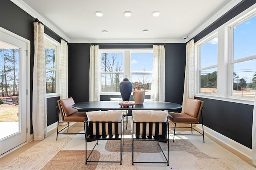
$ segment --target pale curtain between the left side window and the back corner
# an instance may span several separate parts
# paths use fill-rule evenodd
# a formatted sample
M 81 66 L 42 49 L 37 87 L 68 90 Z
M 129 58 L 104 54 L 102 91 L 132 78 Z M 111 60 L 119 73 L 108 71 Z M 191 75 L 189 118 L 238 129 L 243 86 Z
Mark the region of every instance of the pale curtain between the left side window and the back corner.
M 68 43 L 60 41 L 60 99 L 68 98 Z

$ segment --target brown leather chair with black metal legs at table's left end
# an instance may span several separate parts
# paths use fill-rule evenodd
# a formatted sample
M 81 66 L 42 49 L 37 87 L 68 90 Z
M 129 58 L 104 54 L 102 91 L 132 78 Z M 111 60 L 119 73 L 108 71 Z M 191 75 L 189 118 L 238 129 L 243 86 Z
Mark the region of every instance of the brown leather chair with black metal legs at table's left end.
M 73 98 L 66 98 L 57 101 L 59 114 L 58 114 L 58 126 L 57 126 L 57 137 L 56 141 L 58 140 L 58 133 L 64 134 L 85 134 L 85 122 L 86 122 L 86 112 L 85 111 L 78 111 L 72 107 L 75 104 Z M 62 122 L 68 123 L 66 127 L 59 131 L 59 117 L 61 116 Z M 76 122 L 83 122 L 84 125 L 69 125 L 69 123 L 76 123 Z M 80 132 L 68 132 L 69 127 L 84 127 L 84 133 Z M 67 132 L 62 132 L 67 128 Z

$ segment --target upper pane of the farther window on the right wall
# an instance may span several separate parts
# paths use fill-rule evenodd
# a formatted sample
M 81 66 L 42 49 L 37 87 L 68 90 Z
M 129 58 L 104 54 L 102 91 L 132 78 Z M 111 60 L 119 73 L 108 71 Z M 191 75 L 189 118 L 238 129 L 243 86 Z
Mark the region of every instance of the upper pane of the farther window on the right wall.
M 218 37 L 200 46 L 201 68 L 212 66 L 218 62 Z

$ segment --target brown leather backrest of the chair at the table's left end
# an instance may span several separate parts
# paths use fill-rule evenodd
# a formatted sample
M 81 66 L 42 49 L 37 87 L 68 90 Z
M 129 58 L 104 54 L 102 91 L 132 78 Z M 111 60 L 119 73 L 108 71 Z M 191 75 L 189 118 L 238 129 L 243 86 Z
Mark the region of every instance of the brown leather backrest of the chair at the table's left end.
M 62 120 L 65 116 L 72 115 L 78 111 L 72 107 L 72 105 L 75 104 L 73 98 L 60 99 L 57 101 L 57 103 L 60 109 Z

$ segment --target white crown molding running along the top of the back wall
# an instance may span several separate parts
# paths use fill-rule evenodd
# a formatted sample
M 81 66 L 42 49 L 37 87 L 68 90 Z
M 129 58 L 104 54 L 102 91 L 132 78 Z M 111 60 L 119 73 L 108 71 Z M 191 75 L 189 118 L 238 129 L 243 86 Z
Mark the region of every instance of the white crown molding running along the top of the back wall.
M 184 39 L 71 39 L 69 43 L 186 43 Z

